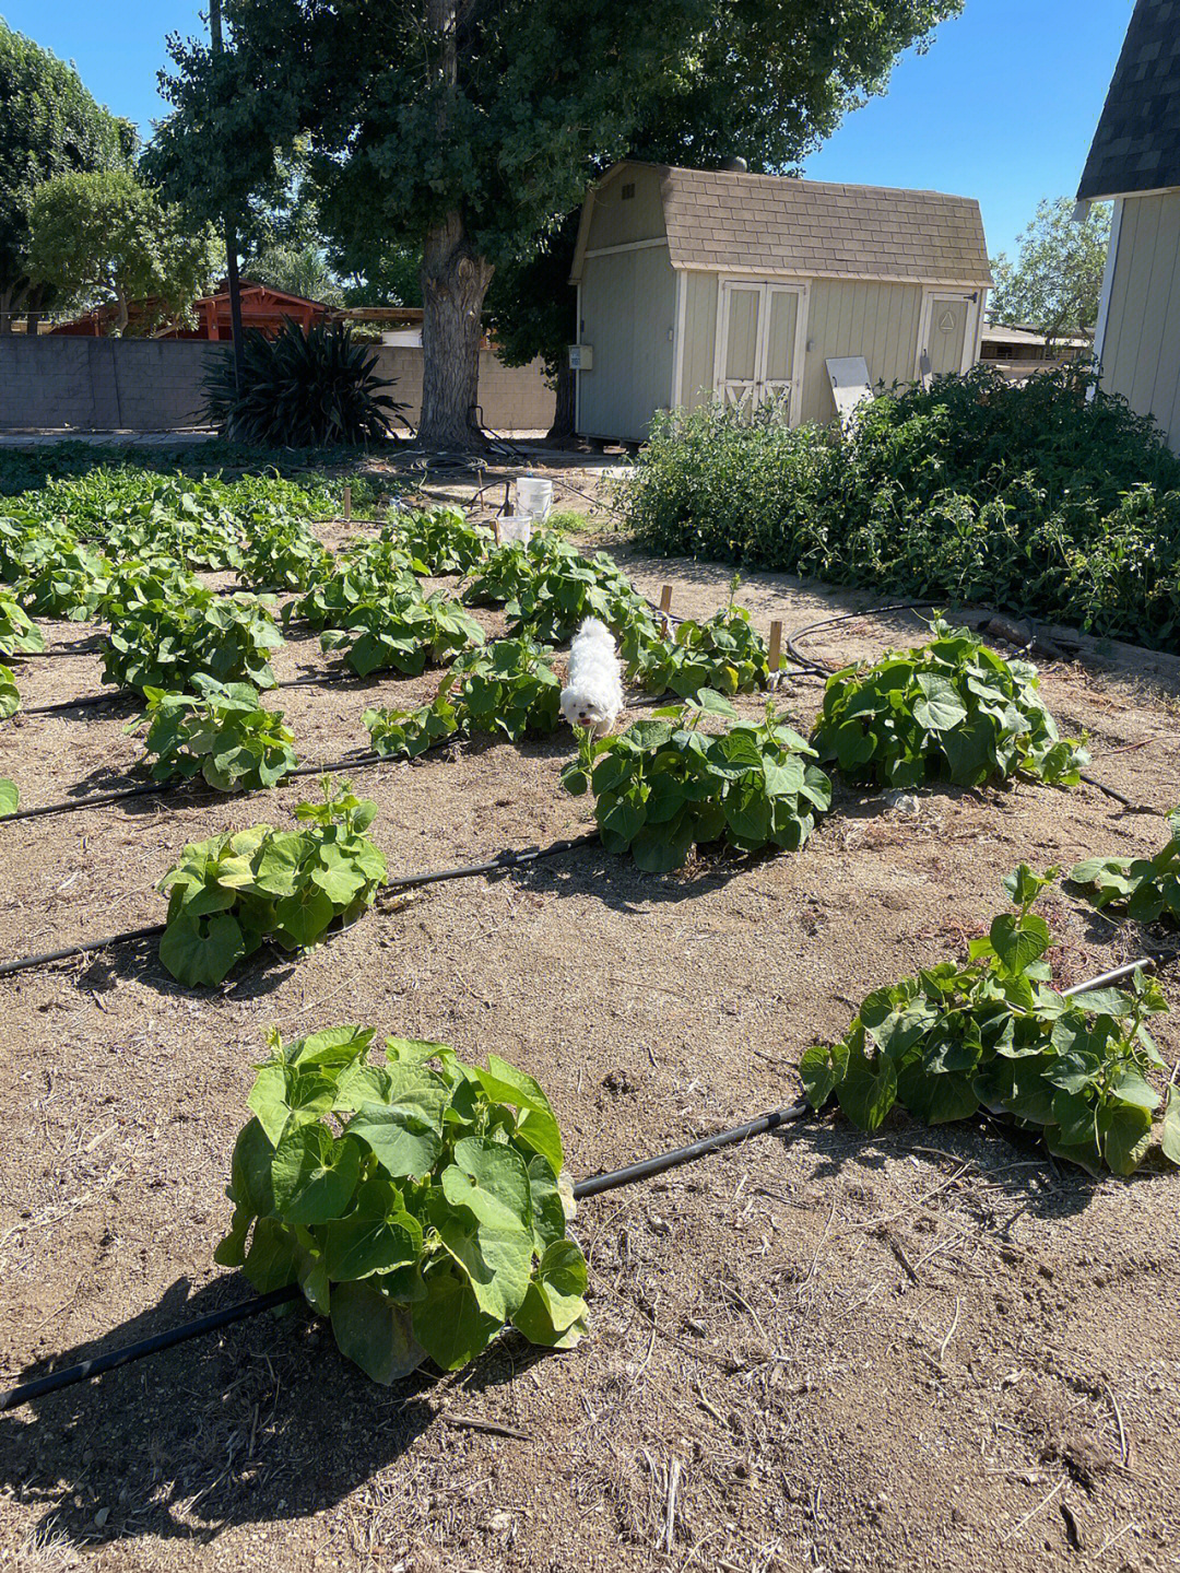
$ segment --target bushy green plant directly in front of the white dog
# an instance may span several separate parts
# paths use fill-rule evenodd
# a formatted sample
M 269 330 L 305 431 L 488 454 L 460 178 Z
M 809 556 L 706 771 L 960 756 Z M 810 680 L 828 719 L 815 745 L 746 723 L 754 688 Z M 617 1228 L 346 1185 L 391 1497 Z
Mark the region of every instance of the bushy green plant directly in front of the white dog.
M 707 842 L 797 851 L 831 805 L 831 782 L 809 763 L 814 750 L 773 705 L 762 722 L 735 720 L 720 736 L 699 730 L 702 714 L 737 717 L 729 700 L 702 689 L 696 703 L 657 711 L 617 736 L 583 733 L 578 760 L 561 772 L 575 796 L 594 791 L 606 851 L 630 851 L 649 873 L 679 868 Z

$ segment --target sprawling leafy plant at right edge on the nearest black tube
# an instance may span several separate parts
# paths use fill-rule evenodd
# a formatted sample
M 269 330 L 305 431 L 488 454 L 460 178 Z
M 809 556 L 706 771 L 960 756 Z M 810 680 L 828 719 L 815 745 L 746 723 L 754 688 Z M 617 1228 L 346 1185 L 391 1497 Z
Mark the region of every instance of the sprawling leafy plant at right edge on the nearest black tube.
M 1098 1173 L 1131 1173 L 1152 1142 L 1163 1059 L 1145 1021 L 1167 1010 L 1160 985 L 1136 972 L 1128 989 L 1065 997 L 1053 988 L 1050 926 L 1031 911 L 1040 876 L 1021 864 L 1004 879 L 1015 912 L 976 939 L 965 966 L 944 961 L 875 989 L 847 1035 L 800 1060 L 812 1107 L 834 1093 L 844 1114 L 875 1131 L 894 1104 L 927 1125 L 965 1120 L 980 1106 L 1039 1126 L 1051 1153 Z M 1180 1100 L 1171 1098 L 1163 1150 L 1180 1162 Z

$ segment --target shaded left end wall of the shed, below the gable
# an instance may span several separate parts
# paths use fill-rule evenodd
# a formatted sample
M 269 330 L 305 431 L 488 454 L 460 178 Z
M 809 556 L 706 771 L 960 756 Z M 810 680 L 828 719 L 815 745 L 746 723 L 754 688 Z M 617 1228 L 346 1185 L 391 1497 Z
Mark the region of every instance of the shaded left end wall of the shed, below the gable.
M 578 373 L 578 431 L 643 442 L 672 393 L 676 274 L 668 250 L 589 256 L 581 280 L 581 343 L 594 368 Z

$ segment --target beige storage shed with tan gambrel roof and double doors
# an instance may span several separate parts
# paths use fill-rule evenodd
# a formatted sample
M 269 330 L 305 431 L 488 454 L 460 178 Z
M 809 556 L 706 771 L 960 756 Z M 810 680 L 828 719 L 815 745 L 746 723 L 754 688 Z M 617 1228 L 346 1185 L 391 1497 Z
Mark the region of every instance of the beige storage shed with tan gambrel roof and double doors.
M 572 283 L 577 429 L 641 442 L 713 395 L 831 420 L 828 360 L 966 371 L 991 274 L 968 197 L 627 162 L 586 197 Z

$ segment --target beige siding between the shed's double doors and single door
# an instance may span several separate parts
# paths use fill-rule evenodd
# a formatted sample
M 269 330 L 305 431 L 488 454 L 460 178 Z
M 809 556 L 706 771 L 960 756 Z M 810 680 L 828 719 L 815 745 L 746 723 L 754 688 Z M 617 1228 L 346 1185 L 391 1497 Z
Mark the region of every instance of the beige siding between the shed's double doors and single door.
M 812 278 L 809 296 L 808 351 L 803 363 L 804 422 L 833 420 L 836 415 L 823 365 L 836 355 L 864 355 L 874 387 L 878 382 L 913 382 L 922 311 L 921 285 Z

